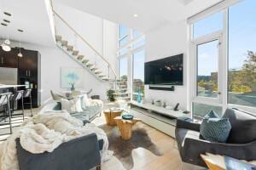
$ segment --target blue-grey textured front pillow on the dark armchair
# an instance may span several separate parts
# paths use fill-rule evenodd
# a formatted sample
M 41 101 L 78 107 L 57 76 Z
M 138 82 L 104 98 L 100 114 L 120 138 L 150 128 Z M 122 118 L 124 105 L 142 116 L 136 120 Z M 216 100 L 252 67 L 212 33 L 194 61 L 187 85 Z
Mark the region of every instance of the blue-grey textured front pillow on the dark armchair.
M 209 118 L 203 119 L 200 127 L 200 134 L 203 139 L 211 142 L 227 141 L 230 135 L 231 124 L 227 118 Z

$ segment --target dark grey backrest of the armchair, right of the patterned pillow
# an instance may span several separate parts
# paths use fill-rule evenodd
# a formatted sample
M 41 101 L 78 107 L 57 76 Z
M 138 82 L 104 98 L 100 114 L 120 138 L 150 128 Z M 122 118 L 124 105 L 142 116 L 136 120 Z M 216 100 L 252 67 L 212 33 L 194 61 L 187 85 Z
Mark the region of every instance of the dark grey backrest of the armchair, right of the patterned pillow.
M 256 116 L 245 111 L 227 109 L 223 117 L 229 118 L 232 127 L 228 143 L 246 144 L 256 140 Z

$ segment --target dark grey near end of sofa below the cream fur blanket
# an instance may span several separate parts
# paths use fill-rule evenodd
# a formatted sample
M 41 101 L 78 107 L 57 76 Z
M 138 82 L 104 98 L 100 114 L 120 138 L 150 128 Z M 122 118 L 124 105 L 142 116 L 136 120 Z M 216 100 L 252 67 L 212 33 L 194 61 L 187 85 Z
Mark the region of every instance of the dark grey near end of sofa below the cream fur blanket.
M 101 169 L 100 150 L 103 140 L 97 141 L 95 133 L 61 144 L 53 152 L 32 154 L 16 139 L 20 170 L 88 170 Z

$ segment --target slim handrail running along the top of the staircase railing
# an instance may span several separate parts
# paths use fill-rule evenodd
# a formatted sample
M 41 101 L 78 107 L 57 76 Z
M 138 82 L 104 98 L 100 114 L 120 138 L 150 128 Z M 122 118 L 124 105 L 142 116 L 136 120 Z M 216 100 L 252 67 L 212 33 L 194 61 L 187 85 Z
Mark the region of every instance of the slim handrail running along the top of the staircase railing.
M 100 53 L 96 50 L 96 48 L 93 48 L 92 45 L 91 45 L 89 42 L 87 42 L 87 41 L 84 39 L 84 37 L 82 37 L 82 36 L 79 34 L 78 31 L 76 31 L 75 29 L 73 29 L 73 27 L 70 26 L 70 25 L 67 23 L 67 21 L 64 20 L 64 19 L 61 17 L 60 14 L 56 13 L 55 10 L 54 10 L 54 8 L 52 8 L 52 11 L 53 11 L 53 13 L 54 13 L 59 19 L 61 19 L 61 20 L 68 26 L 68 28 L 70 28 L 77 36 L 79 36 L 79 37 L 82 39 L 83 42 L 85 42 L 98 56 L 100 56 L 100 57 L 108 64 L 108 68 L 111 69 L 111 71 L 113 72 L 113 75 L 114 75 L 114 77 L 115 77 L 115 79 L 116 79 L 117 74 L 116 74 L 116 72 L 113 70 L 113 67 L 112 67 L 112 65 L 110 65 L 110 63 L 108 62 L 108 60 L 105 59 L 105 58 L 102 56 L 102 54 L 100 54 Z

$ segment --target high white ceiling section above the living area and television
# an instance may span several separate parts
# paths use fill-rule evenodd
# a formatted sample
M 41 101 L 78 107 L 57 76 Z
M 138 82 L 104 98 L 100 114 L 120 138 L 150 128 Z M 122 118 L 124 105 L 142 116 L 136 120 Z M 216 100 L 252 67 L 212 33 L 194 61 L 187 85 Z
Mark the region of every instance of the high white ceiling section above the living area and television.
M 147 32 L 176 23 L 222 0 L 55 0 L 106 20 Z M 137 18 L 133 15 L 137 14 Z

